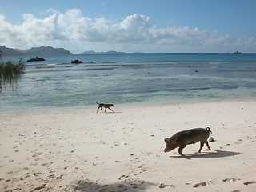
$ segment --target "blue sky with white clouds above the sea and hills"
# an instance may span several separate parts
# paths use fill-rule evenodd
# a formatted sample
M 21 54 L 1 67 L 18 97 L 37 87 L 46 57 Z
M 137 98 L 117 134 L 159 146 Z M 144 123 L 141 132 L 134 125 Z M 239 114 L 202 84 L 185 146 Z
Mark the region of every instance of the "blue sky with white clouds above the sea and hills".
M 255 0 L 1 0 L 0 45 L 256 52 Z

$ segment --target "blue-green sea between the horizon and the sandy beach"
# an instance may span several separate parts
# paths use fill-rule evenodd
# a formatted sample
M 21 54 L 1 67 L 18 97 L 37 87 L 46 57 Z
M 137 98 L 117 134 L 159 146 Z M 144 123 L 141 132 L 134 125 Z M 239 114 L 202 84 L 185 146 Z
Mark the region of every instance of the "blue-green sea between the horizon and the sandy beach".
M 26 62 L 43 57 L 43 62 Z M 0 92 L 0 115 L 117 105 L 256 98 L 256 54 L 73 54 L 4 57 L 25 63 Z M 78 59 L 81 64 L 72 64 Z

